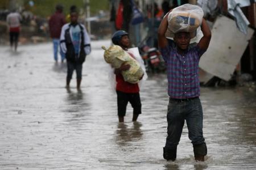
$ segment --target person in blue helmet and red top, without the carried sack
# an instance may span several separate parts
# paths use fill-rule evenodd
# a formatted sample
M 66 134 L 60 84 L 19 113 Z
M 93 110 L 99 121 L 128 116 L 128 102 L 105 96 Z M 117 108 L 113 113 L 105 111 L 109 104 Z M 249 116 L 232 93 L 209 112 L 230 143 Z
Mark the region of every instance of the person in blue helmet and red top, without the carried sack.
M 122 49 L 126 51 L 130 46 L 128 33 L 123 30 L 119 30 L 113 34 L 112 42 L 115 45 L 121 46 Z M 133 54 L 129 54 L 134 58 Z M 133 107 L 133 121 L 137 121 L 139 114 L 141 114 L 141 97 L 139 96 L 138 83 L 132 84 L 125 82 L 121 74 L 122 71 L 129 69 L 130 65 L 126 64 L 114 70 L 115 80 L 117 82 L 115 90 L 117 91 L 117 109 L 119 122 L 124 121 L 128 102 L 130 102 L 131 107 Z

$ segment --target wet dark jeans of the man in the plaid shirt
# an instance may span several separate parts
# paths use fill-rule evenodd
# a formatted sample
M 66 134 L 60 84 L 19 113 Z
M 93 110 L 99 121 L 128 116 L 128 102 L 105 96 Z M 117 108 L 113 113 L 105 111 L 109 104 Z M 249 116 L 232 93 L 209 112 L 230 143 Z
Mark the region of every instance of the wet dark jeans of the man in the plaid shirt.
M 164 151 L 166 157 L 176 159 L 184 122 L 188 127 L 188 137 L 191 139 L 195 155 L 207 155 L 207 146 L 203 137 L 203 110 L 199 97 L 189 101 L 172 100 L 170 98 L 167 112 L 167 138 Z M 166 158 L 165 158 L 166 159 Z

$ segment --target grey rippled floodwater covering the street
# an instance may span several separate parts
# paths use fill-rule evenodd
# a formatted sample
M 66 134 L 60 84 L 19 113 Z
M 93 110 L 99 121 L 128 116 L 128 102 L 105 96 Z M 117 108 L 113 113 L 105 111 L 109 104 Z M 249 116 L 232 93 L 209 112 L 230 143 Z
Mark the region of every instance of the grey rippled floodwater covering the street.
M 167 162 L 166 75 L 148 75 L 138 122 L 128 105 L 119 124 L 101 45 L 110 42 L 92 42 L 81 91 L 75 79 L 65 88 L 67 67 L 54 63 L 51 43 L 0 47 L 0 169 L 255 169 L 256 92 L 201 88 L 206 161 L 194 161 L 184 126 L 177 160 Z

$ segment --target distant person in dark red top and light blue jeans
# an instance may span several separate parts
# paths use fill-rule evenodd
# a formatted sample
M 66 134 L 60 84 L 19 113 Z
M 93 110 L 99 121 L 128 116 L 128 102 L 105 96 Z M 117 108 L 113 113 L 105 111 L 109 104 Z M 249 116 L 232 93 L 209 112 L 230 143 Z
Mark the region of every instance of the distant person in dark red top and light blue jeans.
M 60 45 L 60 32 L 63 25 L 66 23 L 65 16 L 62 14 L 63 6 L 56 5 L 56 12 L 49 19 L 49 32 L 53 41 L 53 53 L 55 62 L 58 61 L 58 49 Z M 60 49 L 61 62 L 64 62 L 65 54 Z

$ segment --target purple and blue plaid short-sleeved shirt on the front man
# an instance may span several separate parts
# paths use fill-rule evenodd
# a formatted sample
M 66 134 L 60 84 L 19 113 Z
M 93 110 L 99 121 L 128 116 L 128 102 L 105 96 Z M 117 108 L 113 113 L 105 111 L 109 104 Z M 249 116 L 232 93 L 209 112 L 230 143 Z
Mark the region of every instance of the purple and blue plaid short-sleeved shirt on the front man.
M 189 45 L 187 52 L 179 54 L 170 40 L 160 52 L 167 65 L 168 95 L 174 99 L 200 96 L 199 59 L 205 51 Z

